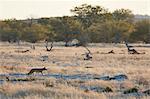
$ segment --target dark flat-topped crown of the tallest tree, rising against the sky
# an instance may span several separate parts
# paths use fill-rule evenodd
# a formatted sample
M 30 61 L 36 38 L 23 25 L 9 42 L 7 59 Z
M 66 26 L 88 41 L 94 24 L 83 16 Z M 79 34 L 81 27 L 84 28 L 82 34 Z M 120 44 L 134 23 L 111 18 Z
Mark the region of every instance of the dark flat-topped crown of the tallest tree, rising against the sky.
M 75 7 L 71 9 L 71 12 L 73 12 L 77 20 L 82 23 L 84 29 L 90 27 L 92 23 L 102 20 L 103 15 L 108 13 L 108 11 L 101 6 L 91 6 L 87 4 Z

